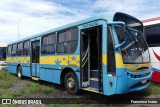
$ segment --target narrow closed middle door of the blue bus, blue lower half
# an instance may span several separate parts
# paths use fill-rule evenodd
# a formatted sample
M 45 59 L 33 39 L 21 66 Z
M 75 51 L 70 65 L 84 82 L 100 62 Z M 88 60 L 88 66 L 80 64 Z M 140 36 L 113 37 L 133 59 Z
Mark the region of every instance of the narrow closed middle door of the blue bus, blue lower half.
M 40 72 L 39 72 L 39 57 L 40 57 L 40 40 L 32 41 L 31 42 L 31 49 L 32 49 L 32 54 L 31 54 L 31 74 L 33 77 L 39 77 Z

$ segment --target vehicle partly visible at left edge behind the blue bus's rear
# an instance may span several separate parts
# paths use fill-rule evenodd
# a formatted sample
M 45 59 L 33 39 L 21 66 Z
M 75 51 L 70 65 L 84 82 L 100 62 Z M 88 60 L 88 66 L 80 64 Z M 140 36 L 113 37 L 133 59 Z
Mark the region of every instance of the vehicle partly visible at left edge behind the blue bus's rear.
M 7 45 L 0 44 L 0 70 L 5 67 Z

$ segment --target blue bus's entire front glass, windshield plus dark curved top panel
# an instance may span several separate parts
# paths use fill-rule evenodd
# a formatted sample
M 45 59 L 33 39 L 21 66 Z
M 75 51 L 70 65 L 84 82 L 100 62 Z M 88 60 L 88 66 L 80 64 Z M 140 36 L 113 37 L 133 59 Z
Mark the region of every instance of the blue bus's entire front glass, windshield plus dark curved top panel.
M 115 16 L 116 21 L 123 21 L 126 25 L 125 43 L 121 46 L 121 52 L 124 63 L 148 63 L 149 50 L 143 35 L 142 23 L 127 15 L 118 14 Z M 117 36 L 118 30 L 115 27 Z M 121 42 L 120 37 L 118 37 Z

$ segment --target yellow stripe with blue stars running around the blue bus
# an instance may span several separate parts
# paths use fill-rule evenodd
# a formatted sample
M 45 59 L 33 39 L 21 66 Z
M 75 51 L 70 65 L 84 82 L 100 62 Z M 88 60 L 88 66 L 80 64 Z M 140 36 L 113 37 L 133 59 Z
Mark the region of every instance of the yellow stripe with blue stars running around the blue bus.
M 128 68 L 131 71 L 137 71 L 140 67 L 150 67 L 150 63 L 148 64 L 124 64 L 122 59 L 122 54 L 115 54 L 116 60 L 116 68 Z M 40 64 L 53 64 L 56 65 L 57 61 L 59 61 L 60 65 L 64 66 L 80 66 L 80 55 L 63 55 L 63 56 L 41 56 Z M 8 57 L 6 58 L 6 62 L 13 63 L 27 63 L 30 62 L 30 57 Z M 107 65 L 107 55 L 102 55 L 102 63 Z

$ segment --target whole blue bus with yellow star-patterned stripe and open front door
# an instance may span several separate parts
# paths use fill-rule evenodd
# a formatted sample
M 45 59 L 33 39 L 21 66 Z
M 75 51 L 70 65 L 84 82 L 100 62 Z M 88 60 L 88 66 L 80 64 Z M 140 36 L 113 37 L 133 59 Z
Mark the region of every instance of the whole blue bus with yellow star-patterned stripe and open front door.
M 143 24 L 121 12 L 102 13 L 12 42 L 9 72 L 63 84 L 69 94 L 145 89 L 151 82 Z

